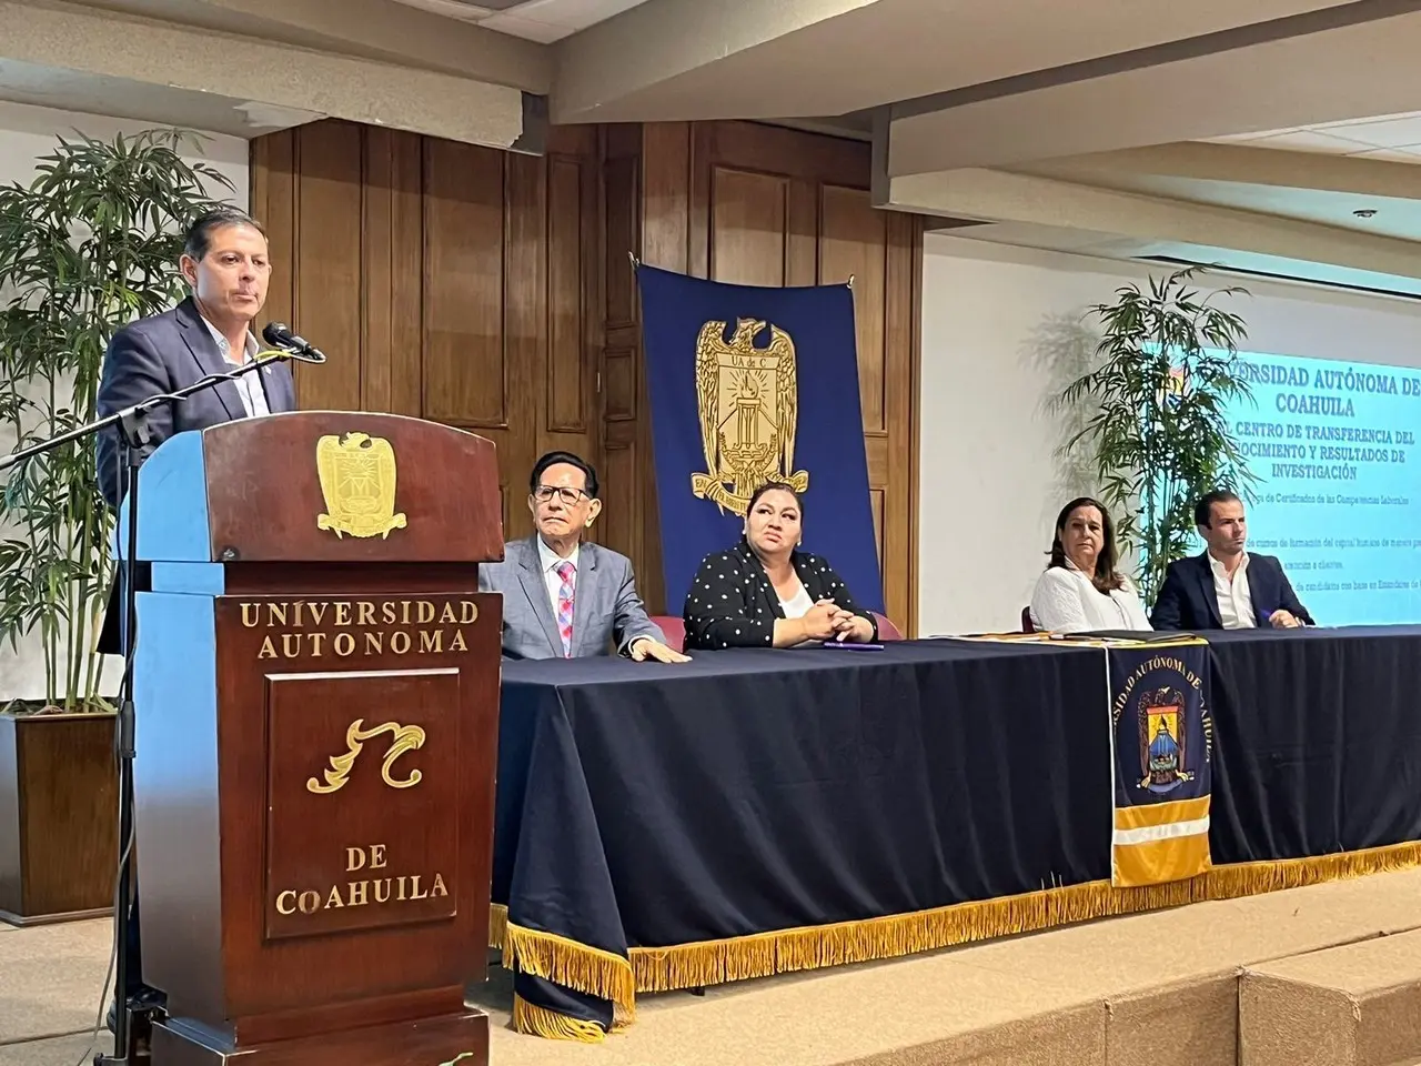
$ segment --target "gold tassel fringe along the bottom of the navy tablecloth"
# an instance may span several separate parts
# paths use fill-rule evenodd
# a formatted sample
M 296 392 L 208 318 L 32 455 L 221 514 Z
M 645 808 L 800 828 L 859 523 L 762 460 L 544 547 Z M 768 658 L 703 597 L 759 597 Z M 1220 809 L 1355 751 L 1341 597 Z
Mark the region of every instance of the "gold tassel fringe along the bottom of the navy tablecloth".
M 1313 858 L 1238 863 L 1214 867 L 1187 881 L 1141 888 L 1113 888 L 1110 881 L 1091 881 L 915 914 L 666 948 L 632 948 L 630 962 L 563 937 L 513 925 L 507 921 L 507 908 L 495 904 L 489 941 L 503 949 L 506 967 L 516 962 L 534 976 L 611 999 L 617 1018 L 614 1028 L 621 1028 L 635 1016 L 637 992 L 705 988 L 773 974 L 897 958 L 1096 918 L 1205 900 L 1235 900 L 1417 866 L 1421 866 L 1421 841 Z M 537 1008 L 529 1005 L 527 1009 Z M 522 1023 L 519 1030 L 524 1032 Z

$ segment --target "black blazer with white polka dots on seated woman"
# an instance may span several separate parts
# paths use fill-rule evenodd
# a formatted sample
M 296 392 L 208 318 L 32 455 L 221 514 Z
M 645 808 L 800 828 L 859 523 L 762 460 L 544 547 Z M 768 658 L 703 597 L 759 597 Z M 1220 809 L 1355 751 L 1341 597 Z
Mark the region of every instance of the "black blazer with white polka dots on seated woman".
M 854 603 L 844 578 L 824 559 L 794 551 L 790 564 L 810 600 L 833 600 L 845 611 L 867 618 L 874 627 L 872 640 L 878 640 L 874 615 Z M 691 583 L 682 611 L 686 648 L 770 648 L 774 647 L 774 620 L 783 617 L 774 586 L 750 543 L 740 537 L 729 551 L 706 556 Z

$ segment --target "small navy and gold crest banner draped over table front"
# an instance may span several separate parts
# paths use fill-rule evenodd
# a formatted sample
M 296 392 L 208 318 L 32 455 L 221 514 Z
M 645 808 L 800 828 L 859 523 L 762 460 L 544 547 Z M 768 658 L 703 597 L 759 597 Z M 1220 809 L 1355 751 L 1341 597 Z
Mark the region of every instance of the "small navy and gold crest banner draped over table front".
M 1202 640 L 1106 648 L 1115 888 L 1182 881 L 1209 868 L 1208 652 Z

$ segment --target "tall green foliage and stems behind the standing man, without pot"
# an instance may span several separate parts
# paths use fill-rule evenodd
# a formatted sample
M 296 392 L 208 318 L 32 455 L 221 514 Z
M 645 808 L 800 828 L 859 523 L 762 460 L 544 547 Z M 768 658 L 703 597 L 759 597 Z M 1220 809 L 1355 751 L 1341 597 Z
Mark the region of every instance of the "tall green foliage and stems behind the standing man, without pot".
M 0 425 L 17 448 L 95 418 L 114 333 L 183 296 L 182 230 L 232 182 L 149 129 L 78 135 L 0 188 Z M 0 641 L 40 634 L 45 708 L 102 705 L 92 645 L 107 603 L 112 513 L 94 442 L 11 468 L 0 493 Z

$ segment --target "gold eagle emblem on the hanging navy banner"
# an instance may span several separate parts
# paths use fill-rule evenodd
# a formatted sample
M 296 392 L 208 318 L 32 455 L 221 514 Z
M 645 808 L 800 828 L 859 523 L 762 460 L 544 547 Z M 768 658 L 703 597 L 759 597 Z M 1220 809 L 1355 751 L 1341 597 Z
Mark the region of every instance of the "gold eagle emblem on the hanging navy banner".
M 726 323 L 710 321 L 696 338 L 696 408 L 706 473 L 691 475 L 691 492 L 722 512 L 745 515 L 750 495 L 770 480 L 809 488 L 794 469 L 799 387 L 794 341 L 770 325 L 770 343 L 755 347 L 766 323 L 740 318 L 730 341 Z

